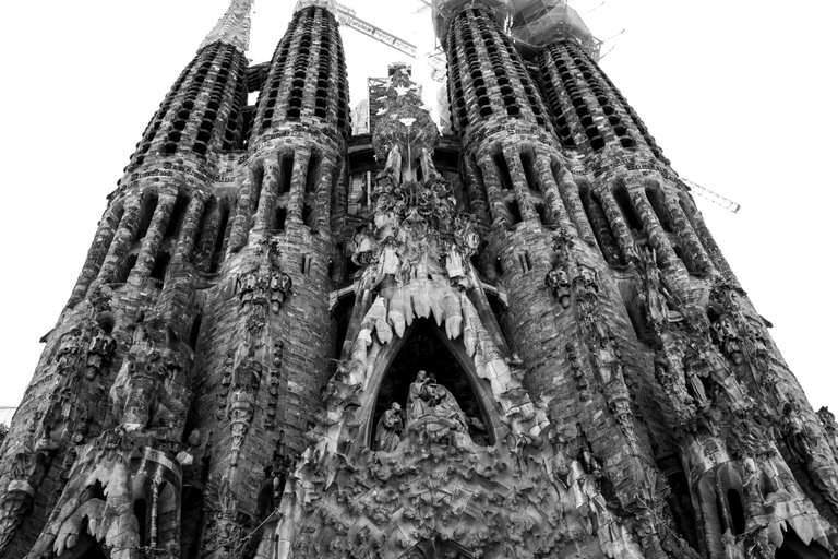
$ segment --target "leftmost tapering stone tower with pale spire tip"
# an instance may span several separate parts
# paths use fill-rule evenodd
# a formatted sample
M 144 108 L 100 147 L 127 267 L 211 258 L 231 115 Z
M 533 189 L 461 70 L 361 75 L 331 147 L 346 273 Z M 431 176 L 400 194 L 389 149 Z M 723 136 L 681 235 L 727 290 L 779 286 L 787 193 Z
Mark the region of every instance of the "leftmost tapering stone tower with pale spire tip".
M 234 1 L 167 94 L 45 336 L 4 449 L 4 557 L 179 556 L 201 513 L 195 356 L 235 203 L 216 187 L 241 141 L 249 12 Z

